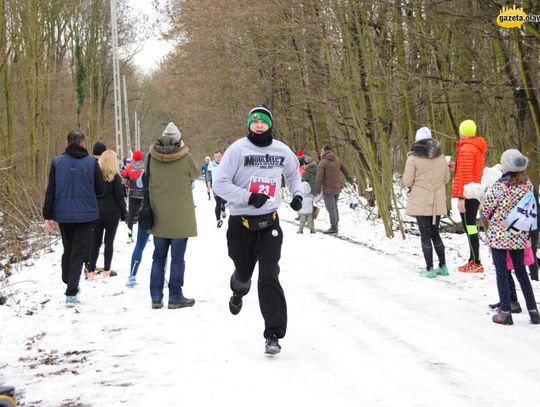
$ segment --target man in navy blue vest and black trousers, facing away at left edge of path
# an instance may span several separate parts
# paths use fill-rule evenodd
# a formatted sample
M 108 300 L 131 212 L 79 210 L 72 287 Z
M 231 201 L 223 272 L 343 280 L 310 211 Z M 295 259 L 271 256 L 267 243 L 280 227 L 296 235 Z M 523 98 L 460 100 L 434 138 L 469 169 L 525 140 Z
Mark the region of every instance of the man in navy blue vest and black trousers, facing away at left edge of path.
M 67 307 L 80 304 L 76 295 L 82 266 L 92 240 L 92 224 L 99 218 L 97 196 L 105 190 L 98 161 L 88 154 L 85 142 L 82 132 L 68 134 L 64 154 L 51 164 L 43 205 L 45 226 L 52 231 L 58 223 L 62 235 Z

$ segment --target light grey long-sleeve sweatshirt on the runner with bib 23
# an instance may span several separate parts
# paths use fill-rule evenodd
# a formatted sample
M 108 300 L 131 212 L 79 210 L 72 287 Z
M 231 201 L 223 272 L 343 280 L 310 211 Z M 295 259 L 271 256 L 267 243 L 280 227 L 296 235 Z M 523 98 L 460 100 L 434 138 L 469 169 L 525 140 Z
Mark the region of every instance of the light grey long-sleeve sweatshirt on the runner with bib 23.
M 293 196 L 302 194 L 299 163 L 284 143 L 272 140 L 258 147 L 247 137 L 235 141 L 213 169 L 214 193 L 227 201 L 231 215 L 257 216 L 271 213 L 281 204 L 281 175 Z M 263 193 L 270 199 L 260 208 L 248 204 L 252 193 Z

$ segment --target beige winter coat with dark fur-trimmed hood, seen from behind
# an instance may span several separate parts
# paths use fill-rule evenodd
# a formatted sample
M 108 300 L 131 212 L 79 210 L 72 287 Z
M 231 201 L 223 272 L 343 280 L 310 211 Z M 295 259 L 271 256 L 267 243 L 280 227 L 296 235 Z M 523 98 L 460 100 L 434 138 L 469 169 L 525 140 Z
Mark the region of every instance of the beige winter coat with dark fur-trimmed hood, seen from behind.
M 437 140 L 414 143 L 407 157 L 403 183 L 411 189 L 405 213 L 409 216 L 446 215 L 445 185 L 450 171 Z

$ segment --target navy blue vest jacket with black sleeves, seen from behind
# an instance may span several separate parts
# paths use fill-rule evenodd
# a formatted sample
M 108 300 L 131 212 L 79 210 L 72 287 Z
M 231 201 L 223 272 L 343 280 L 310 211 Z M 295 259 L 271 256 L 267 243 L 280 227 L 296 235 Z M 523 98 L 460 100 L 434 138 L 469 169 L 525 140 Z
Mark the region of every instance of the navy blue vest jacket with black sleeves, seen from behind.
M 59 223 L 92 222 L 99 218 L 97 196 L 104 191 L 98 162 L 84 147 L 70 144 L 49 171 L 43 218 Z

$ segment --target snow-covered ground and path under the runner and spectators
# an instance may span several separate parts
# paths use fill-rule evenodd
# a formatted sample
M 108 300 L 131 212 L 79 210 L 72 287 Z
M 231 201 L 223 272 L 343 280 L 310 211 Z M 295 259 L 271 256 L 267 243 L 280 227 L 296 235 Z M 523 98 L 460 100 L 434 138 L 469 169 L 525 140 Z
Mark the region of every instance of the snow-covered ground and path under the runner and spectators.
M 119 277 L 82 280 L 80 312 L 64 306 L 61 246 L 17 268 L 13 296 L 0 306 L 0 384 L 16 386 L 22 406 L 540 402 L 540 327 L 526 313 L 510 327 L 490 321 L 497 292 L 485 247 L 485 275 L 459 274 L 465 237 L 444 236 L 451 275 L 427 280 L 418 276 L 419 238 L 385 238 L 346 199 L 340 234 L 357 243 L 297 235 L 284 206 L 289 327 L 282 353 L 266 356 L 256 291 L 230 315 L 226 228 L 216 229 L 202 183 L 194 191 L 199 236 L 188 243 L 184 286 L 193 308 L 150 309 L 151 243 L 139 285 L 125 287 L 133 246 L 123 224 L 113 260 Z M 326 219 L 323 209 L 317 227 L 327 228 Z

